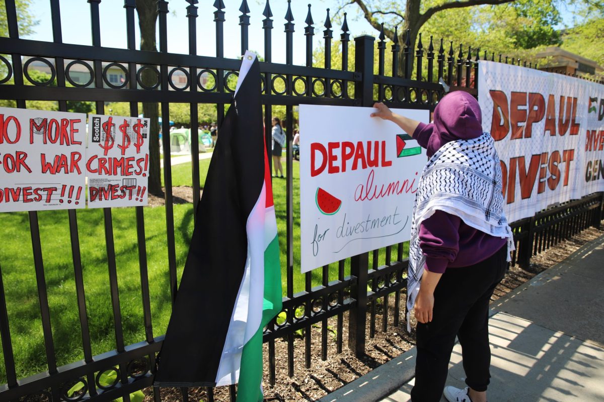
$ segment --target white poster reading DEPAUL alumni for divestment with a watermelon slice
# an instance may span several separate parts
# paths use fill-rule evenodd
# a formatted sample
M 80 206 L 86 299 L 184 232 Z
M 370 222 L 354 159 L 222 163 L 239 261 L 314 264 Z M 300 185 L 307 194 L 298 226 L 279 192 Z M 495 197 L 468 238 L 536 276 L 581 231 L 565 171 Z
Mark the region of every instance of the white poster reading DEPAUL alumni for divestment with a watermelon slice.
M 425 151 L 370 107 L 300 105 L 301 270 L 408 240 Z M 427 110 L 394 110 L 428 122 Z

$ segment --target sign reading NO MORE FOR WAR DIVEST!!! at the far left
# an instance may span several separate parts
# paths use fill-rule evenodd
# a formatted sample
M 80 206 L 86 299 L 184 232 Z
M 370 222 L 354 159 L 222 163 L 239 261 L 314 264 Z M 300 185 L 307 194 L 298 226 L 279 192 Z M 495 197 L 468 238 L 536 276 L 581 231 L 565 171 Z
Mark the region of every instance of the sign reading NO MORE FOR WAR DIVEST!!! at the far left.
M 0 212 L 85 205 L 86 115 L 0 107 Z

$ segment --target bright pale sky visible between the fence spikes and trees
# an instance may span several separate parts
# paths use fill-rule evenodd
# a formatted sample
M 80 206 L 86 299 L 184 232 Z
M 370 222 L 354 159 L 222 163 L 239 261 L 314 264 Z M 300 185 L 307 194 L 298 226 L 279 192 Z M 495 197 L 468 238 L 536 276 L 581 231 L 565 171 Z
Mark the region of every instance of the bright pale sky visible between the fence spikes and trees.
M 240 45 L 240 27 L 239 27 L 239 7 L 240 0 L 223 0 L 225 3 L 224 32 L 224 54 L 227 58 L 237 58 L 241 55 Z M 312 4 L 312 16 L 315 22 L 315 37 L 313 48 L 316 48 L 323 42 L 323 24 L 326 18 L 326 8 L 331 8 L 331 14 L 337 10 L 337 0 L 292 0 L 292 14 L 294 16 L 294 64 L 305 63 L 306 37 L 304 37 L 304 27 L 306 24 L 306 14 L 308 4 Z M 204 56 L 216 55 L 216 28 L 214 23 L 214 0 L 200 0 L 198 6 L 198 54 Z M 61 22 L 63 31 L 63 42 L 75 43 L 78 45 L 91 45 L 91 23 L 90 23 L 90 5 L 86 0 L 62 0 Z M 67 6 L 68 5 L 68 6 Z M 123 8 L 123 0 L 102 0 L 99 5 L 101 20 L 101 45 L 110 48 L 126 48 L 126 12 Z M 188 2 L 185 0 L 169 1 L 170 13 L 167 17 L 168 27 L 168 51 L 171 53 L 188 53 L 188 22 L 186 7 Z M 262 11 L 265 8 L 265 0 L 248 0 L 250 9 L 249 26 L 249 47 L 250 50 L 258 52 L 261 56 L 264 54 L 264 31 L 262 29 L 262 20 L 264 16 Z M 271 0 L 271 10 L 273 14 L 272 30 L 272 61 L 275 63 L 285 63 L 285 33 L 284 24 L 288 2 L 286 0 Z M 349 6 L 350 14 L 356 14 L 355 6 Z M 39 20 L 34 30 L 34 34 L 25 36 L 24 39 L 34 40 L 52 40 L 51 14 L 49 0 L 34 0 L 32 4 L 34 16 Z M 136 14 L 135 14 L 136 15 Z M 565 24 L 571 25 L 572 14 L 568 10 L 562 10 L 562 16 Z M 377 32 L 361 17 L 352 17 L 348 20 L 350 28 L 350 39 L 362 34 L 377 36 Z M 140 45 L 137 24 L 137 48 Z M 341 34 L 340 26 L 334 26 L 333 37 L 339 39 Z M 158 44 L 159 45 L 159 44 Z

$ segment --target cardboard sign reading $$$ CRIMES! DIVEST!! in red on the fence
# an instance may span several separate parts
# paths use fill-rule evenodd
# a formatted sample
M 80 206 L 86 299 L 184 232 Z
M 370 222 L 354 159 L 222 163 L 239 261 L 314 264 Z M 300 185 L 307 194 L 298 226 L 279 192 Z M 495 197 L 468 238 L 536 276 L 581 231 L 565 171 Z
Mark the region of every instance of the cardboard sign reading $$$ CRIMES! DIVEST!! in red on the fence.
M 149 119 L 88 116 L 88 207 L 147 205 Z

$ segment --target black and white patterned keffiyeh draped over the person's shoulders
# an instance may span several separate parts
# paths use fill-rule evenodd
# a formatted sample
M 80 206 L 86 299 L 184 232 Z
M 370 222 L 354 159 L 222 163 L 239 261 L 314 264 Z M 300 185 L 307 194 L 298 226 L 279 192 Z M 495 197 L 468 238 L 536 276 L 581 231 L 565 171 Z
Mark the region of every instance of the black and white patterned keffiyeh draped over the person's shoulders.
M 448 142 L 432 155 L 422 171 L 413 207 L 407 277 L 408 331 L 426 262 L 419 241 L 422 221 L 442 210 L 484 233 L 507 238 L 509 261 L 509 253 L 515 248 L 503 205 L 500 160 L 489 133 Z

